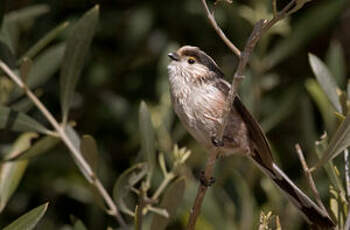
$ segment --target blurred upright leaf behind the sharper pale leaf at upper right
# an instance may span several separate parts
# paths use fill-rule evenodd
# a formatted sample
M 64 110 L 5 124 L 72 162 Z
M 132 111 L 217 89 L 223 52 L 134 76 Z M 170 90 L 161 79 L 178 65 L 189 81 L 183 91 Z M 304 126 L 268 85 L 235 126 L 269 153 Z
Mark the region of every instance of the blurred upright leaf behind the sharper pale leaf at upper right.
M 327 52 L 326 63 L 338 85 L 343 86 L 346 80 L 346 64 L 345 54 L 340 42 L 336 40 L 331 42 Z

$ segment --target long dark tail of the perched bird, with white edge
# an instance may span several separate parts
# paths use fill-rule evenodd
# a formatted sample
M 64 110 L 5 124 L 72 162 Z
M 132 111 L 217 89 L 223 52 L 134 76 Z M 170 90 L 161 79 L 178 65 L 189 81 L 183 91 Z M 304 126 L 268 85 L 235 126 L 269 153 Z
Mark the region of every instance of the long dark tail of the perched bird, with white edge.
M 287 196 L 294 206 L 300 210 L 305 220 L 317 229 L 333 229 L 335 224 L 328 213 L 318 207 L 305 193 L 303 193 L 284 172 L 273 163 L 272 169 L 265 167 L 259 154 L 252 156 L 254 163 L 269 176 L 275 185 Z

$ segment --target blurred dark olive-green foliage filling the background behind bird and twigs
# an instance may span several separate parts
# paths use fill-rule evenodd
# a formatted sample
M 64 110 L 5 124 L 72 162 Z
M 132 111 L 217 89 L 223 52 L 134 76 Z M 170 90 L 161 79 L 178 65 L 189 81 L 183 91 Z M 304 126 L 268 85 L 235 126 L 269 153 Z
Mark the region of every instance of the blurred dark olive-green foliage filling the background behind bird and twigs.
M 277 1 L 277 8 L 287 2 Z M 215 16 L 242 48 L 254 22 L 272 17 L 271 3 L 219 1 Z M 346 225 L 349 191 L 343 158 L 334 157 L 349 145 L 349 12 L 345 0 L 307 2 L 258 43 L 240 87 L 275 159 L 302 190 L 309 187 L 293 146 L 302 145 L 310 166 L 324 157 L 318 166 L 325 170 L 314 177 L 340 227 Z M 84 17 L 90 27 L 81 24 Z M 206 154 L 172 112 L 166 54 L 185 44 L 199 46 L 227 80 L 237 64 L 200 1 L 7 0 L 0 3 L 0 24 L 0 59 L 68 125 L 127 222 L 184 229 Z M 1 72 L 0 228 L 35 225 L 47 211 L 37 229 L 115 229 L 50 127 Z M 305 228 L 295 208 L 247 159 L 219 161 L 215 177 L 198 229 Z M 48 209 L 38 207 L 45 202 Z

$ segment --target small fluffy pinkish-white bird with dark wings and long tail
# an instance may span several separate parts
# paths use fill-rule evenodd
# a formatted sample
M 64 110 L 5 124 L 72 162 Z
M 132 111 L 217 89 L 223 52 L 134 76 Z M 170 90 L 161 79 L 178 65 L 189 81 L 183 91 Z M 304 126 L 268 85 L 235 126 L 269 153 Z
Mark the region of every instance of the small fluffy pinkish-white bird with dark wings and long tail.
M 231 85 L 215 61 L 200 48 L 183 46 L 168 54 L 170 97 L 173 109 L 185 129 L 208 152 L 219 148 L 223 156 L 250 158 L 318 229 L 332 229 L 328 213 L 302 192 L 273 160 L 271 148 L 257 120 L 235 95 L 221 143 L 214 140 Z

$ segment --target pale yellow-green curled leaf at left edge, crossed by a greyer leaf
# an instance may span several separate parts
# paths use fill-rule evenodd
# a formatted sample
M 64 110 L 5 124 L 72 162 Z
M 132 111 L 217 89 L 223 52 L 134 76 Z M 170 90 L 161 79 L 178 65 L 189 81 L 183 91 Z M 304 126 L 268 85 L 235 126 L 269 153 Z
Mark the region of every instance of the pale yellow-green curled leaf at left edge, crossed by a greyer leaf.
M 37 133 L 24 133 L 13 144 L 6 157 L 12 157 L 24 152 L 31 146 L 31 141 L 37 138 Z M 27 168 L 27 161 L 0 163 L 0 212 L 5 208 L 7 201 L 16 190 Z

